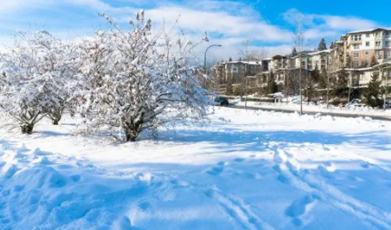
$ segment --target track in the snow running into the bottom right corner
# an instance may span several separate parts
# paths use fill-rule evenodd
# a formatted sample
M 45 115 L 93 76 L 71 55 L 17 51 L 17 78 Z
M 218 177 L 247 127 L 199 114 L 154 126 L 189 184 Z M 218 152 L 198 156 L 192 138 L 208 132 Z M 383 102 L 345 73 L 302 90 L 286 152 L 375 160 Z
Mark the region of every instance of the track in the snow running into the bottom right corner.
M 391 214 L 379 207 L 360 202 L 352 196 L 339 191 L 336 187 L 328 185 L 320 178 L 308 175 L 306 171 L 300 171 L 300 163 L 283 149 L 272 146 L 276 167 L 283 183 L 297 187 L 308 192 L 310 196 L 318 198 L 331 206 L 357 216 L 376 229 L 391 229 Z

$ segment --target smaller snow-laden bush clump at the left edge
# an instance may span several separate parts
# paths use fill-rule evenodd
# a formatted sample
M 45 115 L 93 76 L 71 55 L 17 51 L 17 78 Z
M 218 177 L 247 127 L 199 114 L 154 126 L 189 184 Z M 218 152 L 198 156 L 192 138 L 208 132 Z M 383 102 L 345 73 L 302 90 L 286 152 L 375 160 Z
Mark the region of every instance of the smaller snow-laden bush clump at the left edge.
M 0 106 L 23 133 L 32 133 L 46 115 L 54 123 L 61 119 L 69 95 L 67 77 L 74 74 L 69 72 L 68 51 L 68 45 L 43 31 L 19 34 L 14 48 L 1 55 Z

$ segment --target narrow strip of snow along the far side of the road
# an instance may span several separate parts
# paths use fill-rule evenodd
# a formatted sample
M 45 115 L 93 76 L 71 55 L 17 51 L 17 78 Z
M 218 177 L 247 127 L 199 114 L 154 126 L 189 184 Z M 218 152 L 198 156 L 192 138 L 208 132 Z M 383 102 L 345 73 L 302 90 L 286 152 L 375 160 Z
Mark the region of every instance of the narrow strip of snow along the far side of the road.
M 244 106 L 245 102 L 232 102 L 233 104 L 238 104 L 240 106 Z M 253 107 L 259 107 L 259 108 L 267 108 L 267 109 L 283 109 L 283 110 L 300 110 L 300 104 L 298 103 L 286 103 L 286 102 L 278 102 L 278 103 L 267 103 L 267 102 L 255 102 L 255 101 L 248 101 L 248 106 Z M 332 112 L 332 113 L 343 113 L 343 114 L 356 114 L 361 116 L 383 116 L 386 118 L 391 119 L 391 110 L 381 110 L 381 109 L 372 109 L 369 107 L 338 107 L 338 106 L 332 106 L 330 105 L 328 108 L 326 107 L 326 104 L 322 105 L 314 105 L 314 104 L 308 104 L 307 102 L 303 102 L 303 110 L 304 111 L 310 111 L 310 112 Z

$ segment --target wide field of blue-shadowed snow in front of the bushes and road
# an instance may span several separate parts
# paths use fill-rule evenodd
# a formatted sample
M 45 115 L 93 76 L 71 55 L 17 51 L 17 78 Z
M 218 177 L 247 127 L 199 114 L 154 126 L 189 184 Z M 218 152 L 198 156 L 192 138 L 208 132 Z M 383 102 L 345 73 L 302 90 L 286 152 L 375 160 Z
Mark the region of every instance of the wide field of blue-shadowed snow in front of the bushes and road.
M 216 108 L 111 144 L 0 134 L 0 229 L 391 229 L 391 122 Z

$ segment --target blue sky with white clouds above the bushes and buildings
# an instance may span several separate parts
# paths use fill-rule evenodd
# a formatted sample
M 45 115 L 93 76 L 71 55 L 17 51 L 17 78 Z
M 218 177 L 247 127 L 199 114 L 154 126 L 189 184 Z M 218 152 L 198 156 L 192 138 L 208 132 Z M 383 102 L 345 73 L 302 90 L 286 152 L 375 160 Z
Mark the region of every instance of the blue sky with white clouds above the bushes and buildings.
M 298 18 L 314 46 L 322 37 L 329 43 L 348 31 L 391 27 L 386 12 L 391 9 L 390 0 L 0 0 L 0 45 L 11 43 L 12 34 L 20 30 L 44 29 L 64 39 L 88 36 L 107 27 L 98 13 L 111 15 L 126 28 L 126 22 L 140 9 L 146 10 L 157 26 L 162 22 L 170 26 L 179 18 L 178 28 L 191 39 L 208 31 L 210 43 L 223 45 L 210 51 L 212 60 L 239 57 L 244 41 L 269 55 L 288 53 Z

